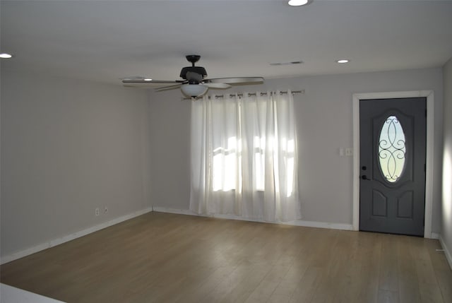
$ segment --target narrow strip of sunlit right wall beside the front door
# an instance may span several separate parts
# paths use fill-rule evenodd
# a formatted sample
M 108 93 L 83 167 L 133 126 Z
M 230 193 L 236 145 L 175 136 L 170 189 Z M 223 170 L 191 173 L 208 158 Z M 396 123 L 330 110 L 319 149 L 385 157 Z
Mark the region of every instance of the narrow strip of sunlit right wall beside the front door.
M 446 245 L 450 258 L 452 254 L 452 58 L 444 66 L 443 75 L 444 167 L 441 239 Z

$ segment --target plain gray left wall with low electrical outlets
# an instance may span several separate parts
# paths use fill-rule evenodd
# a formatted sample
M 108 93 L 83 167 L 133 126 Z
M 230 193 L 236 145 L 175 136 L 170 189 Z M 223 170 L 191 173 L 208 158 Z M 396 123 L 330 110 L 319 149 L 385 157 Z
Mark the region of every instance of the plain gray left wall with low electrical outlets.
M 148 121 L 144 90 L 2 71 L 1 256 L 150 207 Z

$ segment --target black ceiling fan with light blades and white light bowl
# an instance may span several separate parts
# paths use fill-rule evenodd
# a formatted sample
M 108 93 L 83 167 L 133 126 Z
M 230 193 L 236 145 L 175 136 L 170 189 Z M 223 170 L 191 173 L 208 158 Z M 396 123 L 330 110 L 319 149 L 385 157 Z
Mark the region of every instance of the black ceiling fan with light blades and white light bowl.
M 124 78 L 122 83 L 125 86 L 142 86 L 145 84 L 165 85 L 155 88 L 156 91 L 172 90 L 180 88 L 182 93 L 187 97 L 201 97 L 209 88 L 226 89 L 232 85 L 251 85 L 263 83 L 262 77 L 236 77 L 236 78 L 206 78 L 207 72 L 202 66 L 195 66 L 201 56 L 191 54 L 186 56 L 186 59 L 191 62 L 191 66 L 182 68 L 180 77 L 184 80 L 162 81 L 153 80 L 150 78 L 133 77 Z

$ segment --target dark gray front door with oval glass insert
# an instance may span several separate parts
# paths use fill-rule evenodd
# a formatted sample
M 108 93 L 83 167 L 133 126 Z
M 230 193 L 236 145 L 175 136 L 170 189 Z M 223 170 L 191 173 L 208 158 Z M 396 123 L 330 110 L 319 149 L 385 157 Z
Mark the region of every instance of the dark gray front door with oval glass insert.
M 359 230 L 424 234 L 426 103 L 359 100 Z

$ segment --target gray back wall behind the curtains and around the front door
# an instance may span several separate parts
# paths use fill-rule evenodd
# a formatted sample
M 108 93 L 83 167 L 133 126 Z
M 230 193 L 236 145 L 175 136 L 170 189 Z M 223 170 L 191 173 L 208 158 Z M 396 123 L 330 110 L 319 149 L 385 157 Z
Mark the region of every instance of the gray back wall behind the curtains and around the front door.
M 303 220 L 352 224 L 352 94 L 434 90 L 435 163 L 432 231 L 440 230 L 443 80 L 441 69 L 267 80 L 238 91 L 300 90 L 295 95 Z M 227 90 L 228 93 L 231 90 Z M 213 93 L 221 94 L 216 90 Z M 154 206 L 189 209 L 190 102 L 179 90 L 150 94 Z

